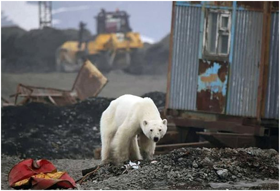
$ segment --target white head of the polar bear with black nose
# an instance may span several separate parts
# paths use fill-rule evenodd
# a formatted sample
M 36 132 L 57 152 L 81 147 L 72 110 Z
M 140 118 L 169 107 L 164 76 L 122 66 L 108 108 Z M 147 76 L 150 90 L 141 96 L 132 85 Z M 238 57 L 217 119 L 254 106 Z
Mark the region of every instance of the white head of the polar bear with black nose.
M 142 122 L 143 133 L 150 140 L 158 142 L 167 131 L 167 120 L 144 120 Z

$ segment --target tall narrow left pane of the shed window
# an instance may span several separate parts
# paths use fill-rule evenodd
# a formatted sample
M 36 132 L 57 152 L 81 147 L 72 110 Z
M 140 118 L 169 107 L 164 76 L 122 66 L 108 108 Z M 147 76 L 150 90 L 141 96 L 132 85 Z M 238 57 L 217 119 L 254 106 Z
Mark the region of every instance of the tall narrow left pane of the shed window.
M 209 14 L 208 51 L 211 53 L 216 53 L 217 17 L 217 13 Z

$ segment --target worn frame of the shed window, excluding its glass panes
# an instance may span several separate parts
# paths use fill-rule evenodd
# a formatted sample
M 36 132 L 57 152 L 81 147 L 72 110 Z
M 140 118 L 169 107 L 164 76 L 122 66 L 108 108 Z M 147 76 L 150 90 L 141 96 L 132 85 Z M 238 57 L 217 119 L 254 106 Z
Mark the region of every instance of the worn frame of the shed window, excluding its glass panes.
M 216 24 L 216 41 L 215 41 L 215 53 L 209 51 L 209 40 L 208 35 L 210 34 L 209 20 L 210 14 L 217 13 L 217 24 Z M 228 26 L 222 27 L 222 17 L 228 17 Z M 228 10 L 219 10 L 219 9 L 206 9 L 205 19 L 204 19 L 204 36 L 203 36 L 203 58 L 215 58 L 221 60 L 228 60 L 230 54 L 230 45 L 231 45 L 231 21 L 232 21 L 232 12 Z M 228 36 L 228 51 L 227 53 L 219 53 L 219 41 L 220 36 Z

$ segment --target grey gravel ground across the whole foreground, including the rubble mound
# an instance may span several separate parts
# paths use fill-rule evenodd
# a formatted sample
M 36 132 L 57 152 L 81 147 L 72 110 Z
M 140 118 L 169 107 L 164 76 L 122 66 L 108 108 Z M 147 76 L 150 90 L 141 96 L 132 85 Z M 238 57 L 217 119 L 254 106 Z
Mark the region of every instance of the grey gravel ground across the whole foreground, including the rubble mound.
M 78 189 L 278 189 L 279 155 L 273 149 L 181 148 L 141 161 L 140 169 L 101 166 Z M 19 158 L 2 154 L 2 189 Z M 97 160 L 51 160 L 75 180 Z M 126 162 L 125 164 L 127 164 Z M 125 172 L 124 172 L 125 171 Z

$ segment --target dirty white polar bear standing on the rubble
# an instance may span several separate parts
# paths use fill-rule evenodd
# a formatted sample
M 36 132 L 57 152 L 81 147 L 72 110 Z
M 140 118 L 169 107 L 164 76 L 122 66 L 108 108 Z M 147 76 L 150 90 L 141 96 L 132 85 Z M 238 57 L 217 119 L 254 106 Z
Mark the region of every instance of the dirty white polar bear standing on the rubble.
M 166 131 L 167 120 L 160 118 L 152 99 L 122 95 L 112 101 L 101 116 L 102 164 L 152 160 L 156 142 Z

